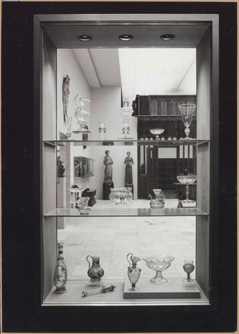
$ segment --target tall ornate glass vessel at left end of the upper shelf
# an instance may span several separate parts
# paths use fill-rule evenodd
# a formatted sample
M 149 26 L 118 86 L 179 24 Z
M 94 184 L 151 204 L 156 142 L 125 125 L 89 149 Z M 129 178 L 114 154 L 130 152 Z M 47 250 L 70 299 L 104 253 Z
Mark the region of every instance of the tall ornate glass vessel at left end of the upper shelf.
M 90 120 L 90 113 L 85 110 L 85 105 L 88 104 L 90 100 L 83 99 L 83 97 L 77 94 L 74 97 L 74 102 L 76 104 L 75 117 L 80 126 L 77 131 L 88 132 L 87 125 Z

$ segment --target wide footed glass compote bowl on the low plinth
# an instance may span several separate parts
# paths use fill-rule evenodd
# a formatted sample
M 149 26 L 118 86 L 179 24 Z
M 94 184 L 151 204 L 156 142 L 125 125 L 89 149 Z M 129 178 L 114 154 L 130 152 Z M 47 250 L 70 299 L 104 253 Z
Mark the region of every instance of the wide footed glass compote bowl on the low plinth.
M 171 266 L 171 262 L 174 260 L 174 257 L 171 255 L 152 255 L 146 258 L 145 260 L 147 266 L 156 271 L 156 276 L 150 279 L 151 283 L 166 283 L 167 280 L 162 276 L 162 271 L 166 270 Z

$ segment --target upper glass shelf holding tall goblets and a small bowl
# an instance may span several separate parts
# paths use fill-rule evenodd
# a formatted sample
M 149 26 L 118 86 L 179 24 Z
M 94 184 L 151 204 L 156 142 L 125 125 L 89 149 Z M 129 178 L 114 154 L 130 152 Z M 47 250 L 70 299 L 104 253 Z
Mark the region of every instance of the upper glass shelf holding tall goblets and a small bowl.
M 207 144 L 210 141 L 208 140 L 177 140 L 177 141 L 138 141 L 135 139 L 117 139 L 117 140 L 107 140 L 107 141 L 76 141 L 76 140 L 65 140 L 65 141 L 43 141 L 44 144 L 48 145 L 65 145 L 65 143 L 74 143 L 74 145 L 83 145 L 83 146 L 113 146 L 113 145 L 145 145 L 145 146 L 160 146 L 160 147 L 172 147 L 172 146 L 180 146 L 180 145 L 203 145 Z

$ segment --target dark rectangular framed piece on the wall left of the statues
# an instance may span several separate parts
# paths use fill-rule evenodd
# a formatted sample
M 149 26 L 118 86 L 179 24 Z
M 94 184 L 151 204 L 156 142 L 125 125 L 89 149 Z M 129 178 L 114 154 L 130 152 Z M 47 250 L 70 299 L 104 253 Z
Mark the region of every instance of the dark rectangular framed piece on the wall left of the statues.
M 94 176 L 94 159 L 74 157 L 74 178 Z

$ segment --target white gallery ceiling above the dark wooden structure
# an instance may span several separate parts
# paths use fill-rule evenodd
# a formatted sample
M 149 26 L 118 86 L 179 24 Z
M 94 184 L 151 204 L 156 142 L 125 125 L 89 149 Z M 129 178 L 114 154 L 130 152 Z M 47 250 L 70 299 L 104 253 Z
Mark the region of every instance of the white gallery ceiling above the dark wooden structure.
M 74 49 L 92 88 L 122 86 L 135 95 L 195 95 L 196 48 Z

